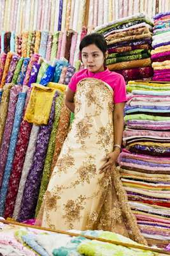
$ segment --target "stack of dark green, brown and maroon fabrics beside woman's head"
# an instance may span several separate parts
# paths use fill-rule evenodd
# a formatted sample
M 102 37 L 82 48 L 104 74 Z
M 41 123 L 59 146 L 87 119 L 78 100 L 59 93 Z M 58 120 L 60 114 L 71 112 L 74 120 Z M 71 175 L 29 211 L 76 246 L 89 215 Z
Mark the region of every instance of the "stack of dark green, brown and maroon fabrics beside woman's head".
M 143 14 L 109 22 L 95 29 L 106 38 L 111 71 L 122 74 L 125 80 L 152 77 L 150 49 L 152 20 Z

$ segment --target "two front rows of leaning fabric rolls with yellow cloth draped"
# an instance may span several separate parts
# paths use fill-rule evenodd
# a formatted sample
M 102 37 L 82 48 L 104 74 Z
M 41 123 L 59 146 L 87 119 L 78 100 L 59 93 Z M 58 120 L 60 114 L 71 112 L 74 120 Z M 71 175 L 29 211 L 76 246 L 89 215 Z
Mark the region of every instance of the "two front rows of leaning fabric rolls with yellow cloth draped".
M 64 92 L 75 68 L 66 60 L 52 65 L 38 54 L 18 56 L 17 67 L 11 68 L 13 56 L 8 52 L 1 80 L 0 215 L 23 221 L 38 213 L 67 136 L 70 112 Z

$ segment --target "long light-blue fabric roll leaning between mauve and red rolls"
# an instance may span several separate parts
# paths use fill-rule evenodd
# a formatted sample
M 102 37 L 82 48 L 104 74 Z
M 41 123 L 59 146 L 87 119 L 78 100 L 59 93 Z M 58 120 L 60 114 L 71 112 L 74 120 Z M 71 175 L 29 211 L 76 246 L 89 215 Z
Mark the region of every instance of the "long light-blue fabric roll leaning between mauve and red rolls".
M 16 106 L 16 110 L 15 110 L 15 118 L 14 118 L 14 122 L 13 122 L 13 129 L 11 132 L 10 147 L 8 150 L 8 157 L 7 157 L 7 161 L 6 161 L 6 166 L 5 166 L 5 170 L 4 170 L 4 176 L 3 176 L 3 183 L 2 183 L 2 187 L 1 187 L 0 216 L 3 216 L 3 213 L 4 213 L 4 205 L 5 205 L 5 200 L 6 200 L 6 194 L 8 191 L 8 182 L 10 179 L 13 157 L 15 155 L 15 147 L 17 144 L 18 131 L 20 129 L 20 122 L 22 120 L 22 113 L 24 110 L 26 95 L 27 95 L 27 93 L 25 93 L 25 92 L 20 92 L 18 94 L 17 106 Z

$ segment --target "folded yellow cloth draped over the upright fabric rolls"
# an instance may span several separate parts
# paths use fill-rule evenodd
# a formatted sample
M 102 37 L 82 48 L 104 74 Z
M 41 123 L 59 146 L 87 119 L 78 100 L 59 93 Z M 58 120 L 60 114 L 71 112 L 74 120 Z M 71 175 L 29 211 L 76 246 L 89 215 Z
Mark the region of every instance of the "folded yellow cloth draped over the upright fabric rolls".
M 48 124 L 55 89 L 40 84 L 32 84 L 29 104 L 25 111 L 24 120 L 36 125 Z

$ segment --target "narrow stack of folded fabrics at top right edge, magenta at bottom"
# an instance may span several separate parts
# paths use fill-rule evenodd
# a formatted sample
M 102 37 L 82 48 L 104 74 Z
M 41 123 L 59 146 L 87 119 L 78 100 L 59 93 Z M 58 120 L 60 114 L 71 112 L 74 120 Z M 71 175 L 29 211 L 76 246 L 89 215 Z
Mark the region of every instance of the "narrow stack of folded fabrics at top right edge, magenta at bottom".
M 170 12 L 159 13 L 153 19 L 153 80 L 170 81 Z

